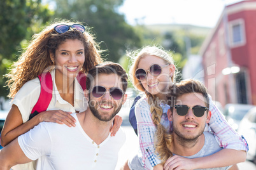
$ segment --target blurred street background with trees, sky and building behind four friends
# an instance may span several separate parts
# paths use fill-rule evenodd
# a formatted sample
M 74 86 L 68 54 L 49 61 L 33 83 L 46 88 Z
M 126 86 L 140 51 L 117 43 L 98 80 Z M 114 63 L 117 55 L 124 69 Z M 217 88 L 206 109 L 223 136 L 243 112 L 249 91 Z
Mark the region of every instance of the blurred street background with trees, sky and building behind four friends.
M 150 44 L 169 50 L 181 73 L 176 81 L 204 82 L 232 128 L 248 141 L 246 162 L 256 163 L 255 0 L 1 0 L 0 125 L 10 108 L 3 75 L 33 34 L 61 19 L 90 27 L 106 49 L 105 60 L 118 62 L 127 71 L 127 51 Z M 138 142 L 129 124 L 129 108 L 139 92 L 130 82 L 127 93 L 120 115 L 129 134 L 125 147 L 131 148 Z

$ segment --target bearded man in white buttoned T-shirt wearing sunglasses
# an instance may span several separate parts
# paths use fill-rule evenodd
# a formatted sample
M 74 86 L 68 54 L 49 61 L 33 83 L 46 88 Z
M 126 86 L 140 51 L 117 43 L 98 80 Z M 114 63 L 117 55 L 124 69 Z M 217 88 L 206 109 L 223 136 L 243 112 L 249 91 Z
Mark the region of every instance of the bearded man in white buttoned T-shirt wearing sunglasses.
M 110 136 L 115 115 L 125 103 L 127 75 L 117 63 L 104 63 L 89 70 L 89 108 L 72 114 L 76 126 L 42 122 L 22 134 L 0 152 L 0 169 L 10 169 L 39 157 L 36 169 L 115 169 L 118 152 L 125 142 L 120 128 Z

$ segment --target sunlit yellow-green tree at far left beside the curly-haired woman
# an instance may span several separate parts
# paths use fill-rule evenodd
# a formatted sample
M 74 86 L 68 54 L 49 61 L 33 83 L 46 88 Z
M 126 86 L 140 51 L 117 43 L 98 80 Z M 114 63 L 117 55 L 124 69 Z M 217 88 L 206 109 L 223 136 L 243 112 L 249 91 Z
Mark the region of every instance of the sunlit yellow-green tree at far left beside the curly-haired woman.
M 46 23 L 52 11 L 43 6 L 41 0 L 1 0 L 0 2 L 0 94 L 6 96 L 4 87 L 6 79 L 3 75 L 8 72 L 11 63 L 17 60 L 20 42 L 30 39 L 38 32 L 41 25 Z

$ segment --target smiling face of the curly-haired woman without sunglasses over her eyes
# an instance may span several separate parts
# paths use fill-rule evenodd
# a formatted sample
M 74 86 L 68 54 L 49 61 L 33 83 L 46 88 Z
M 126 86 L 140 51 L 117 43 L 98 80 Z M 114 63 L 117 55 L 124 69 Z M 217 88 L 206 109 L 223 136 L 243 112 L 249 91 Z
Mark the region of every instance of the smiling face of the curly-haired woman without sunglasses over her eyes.
M 51 57 L 52 58 L 52 57 Z M 55 75 L 76 77 L 85 62 L 85 49 L 78 39 L 64 41 L 55 51 Z

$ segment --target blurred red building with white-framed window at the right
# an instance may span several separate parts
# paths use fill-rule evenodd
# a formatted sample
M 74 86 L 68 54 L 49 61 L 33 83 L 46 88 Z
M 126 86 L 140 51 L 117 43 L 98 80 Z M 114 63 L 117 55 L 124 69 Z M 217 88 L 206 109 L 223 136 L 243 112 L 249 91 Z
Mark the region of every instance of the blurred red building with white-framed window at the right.
M 226 6 L 200 55 L 213 100 L 256 105 L 256 1 Z

